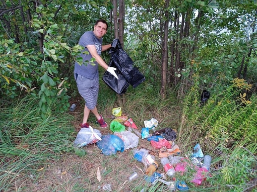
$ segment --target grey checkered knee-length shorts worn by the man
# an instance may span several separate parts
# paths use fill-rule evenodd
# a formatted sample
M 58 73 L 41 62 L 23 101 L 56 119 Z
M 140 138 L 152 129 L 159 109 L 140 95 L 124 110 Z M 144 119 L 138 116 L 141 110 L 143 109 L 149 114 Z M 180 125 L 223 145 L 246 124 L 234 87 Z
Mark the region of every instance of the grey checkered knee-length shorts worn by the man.
M 89 110 L 93 110 L 97 104 L 99 78 L 89 79 L 77 73 L 74 73 L 74 78 L 77 82 L 79 93 L 86 102 L 85 105 Z

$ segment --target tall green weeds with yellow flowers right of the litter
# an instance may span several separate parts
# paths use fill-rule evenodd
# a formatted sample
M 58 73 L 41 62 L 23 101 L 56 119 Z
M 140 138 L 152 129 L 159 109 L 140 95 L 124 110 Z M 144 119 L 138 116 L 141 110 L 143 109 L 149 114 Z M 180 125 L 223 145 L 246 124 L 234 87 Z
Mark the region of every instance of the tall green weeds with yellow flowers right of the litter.
M 211 185 L 215 191 L 246 191 L 256 185 L 257 97 L 243 79 L 233 79 L 225 88 L 212 87 L 207 103 L 200 103 L 195 74 L 184 100 L 178 143 L 185 148 L 200 143 L 204 154 L 213 158 Z M 222 90 L 222 91 L 220 91 Z

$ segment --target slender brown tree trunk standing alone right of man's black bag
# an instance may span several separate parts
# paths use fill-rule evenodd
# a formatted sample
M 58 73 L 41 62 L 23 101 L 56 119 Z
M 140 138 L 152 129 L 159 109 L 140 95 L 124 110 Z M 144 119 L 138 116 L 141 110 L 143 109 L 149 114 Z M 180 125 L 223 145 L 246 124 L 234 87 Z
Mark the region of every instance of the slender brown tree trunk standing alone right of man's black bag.
M 167 69 L 168 69 L 168 32 L 169 32 L 169 0 L 165 3 L 164 14 L 164 38 L 162 47 L 162 82 L 161 82 L 161 97 L 165 99 L 165 90 L 167 85 Z

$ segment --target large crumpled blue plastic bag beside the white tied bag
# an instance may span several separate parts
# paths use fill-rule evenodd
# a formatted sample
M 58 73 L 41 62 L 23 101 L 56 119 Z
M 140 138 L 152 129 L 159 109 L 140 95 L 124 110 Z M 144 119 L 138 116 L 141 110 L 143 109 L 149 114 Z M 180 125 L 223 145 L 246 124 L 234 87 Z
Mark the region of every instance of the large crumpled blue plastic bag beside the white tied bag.
M 113 155 L 117 151 L 124 151 L 124 142 L 116 135 L 103 135 L 101 137 L 102 141 L 97 142 L 96 145 L 102 150 L 104 155 Z

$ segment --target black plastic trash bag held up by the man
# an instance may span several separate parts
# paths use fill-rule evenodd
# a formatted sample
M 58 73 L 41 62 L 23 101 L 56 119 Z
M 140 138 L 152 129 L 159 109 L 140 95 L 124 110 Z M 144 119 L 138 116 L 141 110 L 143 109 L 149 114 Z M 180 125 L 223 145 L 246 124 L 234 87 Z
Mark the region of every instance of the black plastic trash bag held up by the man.
M 137 67 L 133 66 L 134 62 L 125 53 L 125 51 L 123 51 L 118 39 L 114 39 L 111 45 L 112 47 L 109 51 L 111 61 L 109 62 L 109 66 L 117 69 L 115 72 L 119 79 L 113 80 L 115 77 L 113 77 L 113 75 L 109 72 L 105 71 L 103 81 L 116 93 L 123 94 L 126 92 L 127 87 L 129 86 L 127 83 L 136 88 L 139 84 L 145 81 L 145 76 L 138 70 Z M 127 83 L 124 82 L 124 79 L 127 81 Z

